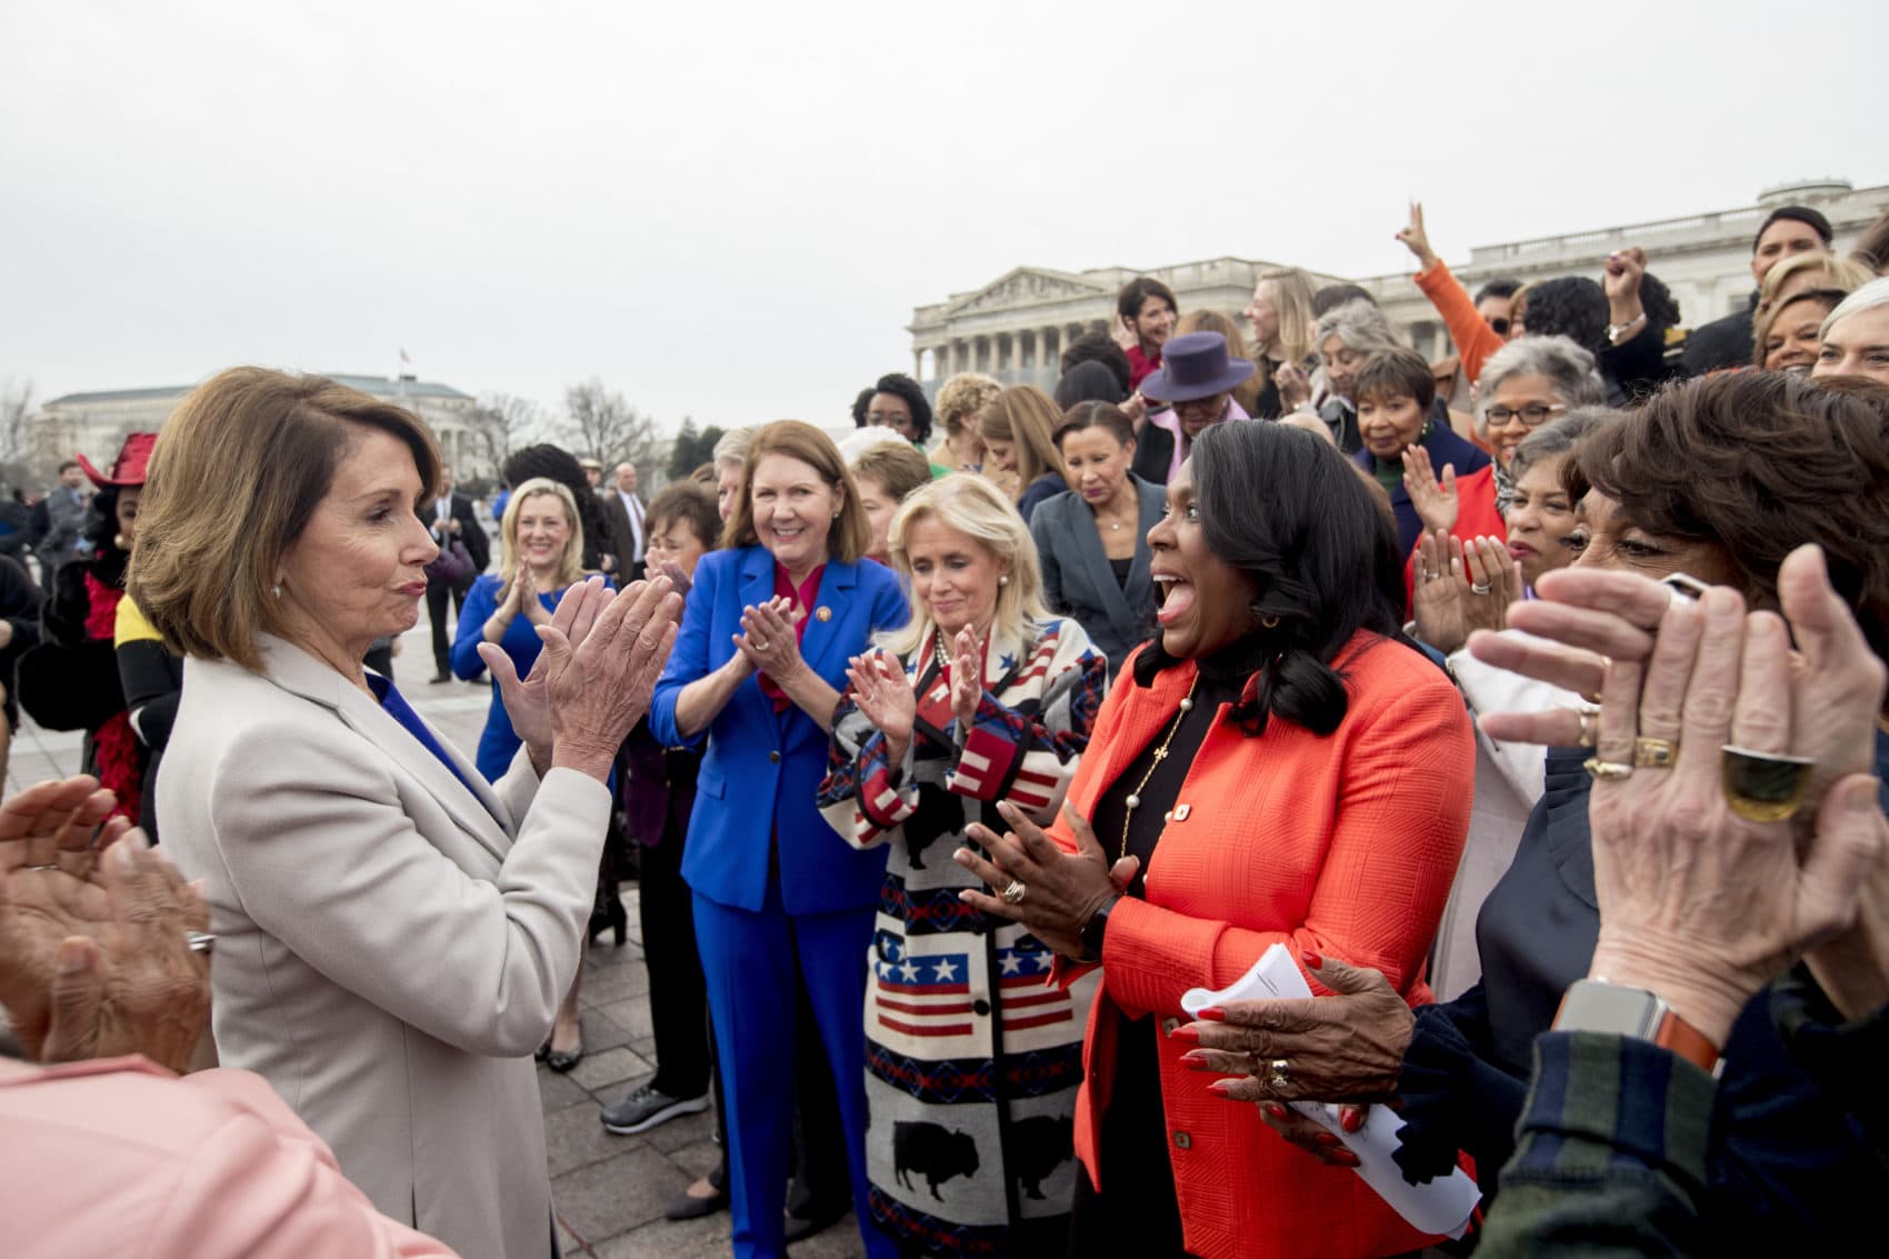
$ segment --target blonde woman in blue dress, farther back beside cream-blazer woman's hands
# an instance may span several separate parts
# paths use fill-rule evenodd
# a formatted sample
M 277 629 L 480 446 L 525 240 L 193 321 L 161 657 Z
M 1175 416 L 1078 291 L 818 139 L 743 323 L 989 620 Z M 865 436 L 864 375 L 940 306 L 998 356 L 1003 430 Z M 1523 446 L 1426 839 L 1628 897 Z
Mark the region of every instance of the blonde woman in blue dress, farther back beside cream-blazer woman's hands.
M 499 546 L 499 571 L 480 575 L 459 609 L 451 665 L 453 675 L 468 682 L 485 671 L 485 662 L 478 656 L 480 643 L 497 643 L 512 660 L 518 677 L 531 673 L 544 647 L 536 628 L 552 624 L 559 595 L 567 586 L 584 580 L 584 526 L 570 490 L 548 476 L 533 476 L 518 486 L 504 505 Z M 485 713 L 485 730 L 480 733 L 474 756 L 485 781 L 499 781 L 518 747 L 519 737 L 512 730 L 495 679 L 491 709 Z M 604 862 L 608 860 L 606 847 Z M 584 968 L 578 966 L 570 991 L 557 1009 L 552 1040 L 542 1051 L 544 1064 L 553 1072 L 569 1072 L 584 1057 L 584 1030 L 578 1023 L 582 979 Z

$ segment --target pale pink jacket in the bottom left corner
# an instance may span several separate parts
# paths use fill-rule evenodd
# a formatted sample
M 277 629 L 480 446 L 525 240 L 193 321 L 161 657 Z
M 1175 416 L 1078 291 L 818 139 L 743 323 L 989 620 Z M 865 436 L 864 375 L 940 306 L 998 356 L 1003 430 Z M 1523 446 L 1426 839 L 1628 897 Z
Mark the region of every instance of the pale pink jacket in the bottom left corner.
M 434 1257 L 253 1072 L 0 1061 L 6 1250 L 60 1259 Z M 546 1221 L 546 1238 L 550 1238 Z

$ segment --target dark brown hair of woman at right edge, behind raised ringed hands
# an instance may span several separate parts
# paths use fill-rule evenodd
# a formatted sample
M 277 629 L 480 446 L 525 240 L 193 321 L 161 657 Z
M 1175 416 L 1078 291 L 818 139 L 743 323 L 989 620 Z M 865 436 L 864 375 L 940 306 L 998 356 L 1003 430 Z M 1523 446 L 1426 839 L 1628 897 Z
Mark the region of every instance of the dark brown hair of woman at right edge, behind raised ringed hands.
M 1815 543 L 1870 648 L 1889 658 L 1889 389 L 1700 376 L 1589 433 L 1570 465 L 1572 490 L 1598 490 L 1647 533 L 1723 548 L 1757 607 L 1778 607 L 1778 567 Z

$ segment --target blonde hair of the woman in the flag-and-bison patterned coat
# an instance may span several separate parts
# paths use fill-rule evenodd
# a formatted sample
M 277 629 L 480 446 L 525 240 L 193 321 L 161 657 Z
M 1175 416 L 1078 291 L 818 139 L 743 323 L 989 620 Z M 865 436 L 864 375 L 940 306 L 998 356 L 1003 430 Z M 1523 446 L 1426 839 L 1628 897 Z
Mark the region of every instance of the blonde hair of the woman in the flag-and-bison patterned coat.
M 997 584 L 997 614 L 992 628 L 1003 637 L 1022 637 L 1024 630 L 1048 616 L 1043 607 L 1043 569 L 1037 565 L 1037 546 L 1030 526 L 1003 492 L 982 476 L 946 476 L 920 486 L 899 507 L 886 533 L 892 567 L 905 575 L 910 590 L 912 561 L 905 554 L 905 539 L 922 520 L 937 520 L 980 544 L 1009 571 L 1009 580 Z M 910 595 L 909 595 L 910 597 Z M 910 597 L 912 618 L 897 630 L 878 635 L 878 645 L 895 656 L 916 652 L 935 630 L 931 614 Z

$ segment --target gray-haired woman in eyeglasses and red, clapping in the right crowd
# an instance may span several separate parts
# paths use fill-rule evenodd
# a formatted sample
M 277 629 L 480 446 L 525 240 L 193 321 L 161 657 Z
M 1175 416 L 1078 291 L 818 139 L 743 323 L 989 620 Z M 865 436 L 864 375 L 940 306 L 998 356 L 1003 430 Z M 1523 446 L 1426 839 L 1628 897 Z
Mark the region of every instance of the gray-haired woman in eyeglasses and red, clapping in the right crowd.
M 1422 522 L 1422 533 L 1443 529 L 1462 541 L 1468 554 L 1477 537 L 1506 543 L 1504 514 L 1515 497 L 1515 448 L 1538 427 L 1577 406 L 1606 403 L 1606 386 L 1594 369 L 1594 355 L 1566 336 L 1523 336 L 1492 354 L 1483 365 L 1477 422 L 1489 433 L 1494 459 L 1475 473 L 1458 476 L 1443 465 L 1441 478 L 1430 454 L 1411 444 L 1404 450 L 1404 492 Z M 1405 565 L 1415 584 L 1417 554 Z M 1481 594 L 1481 592 L 1477 592 Z

